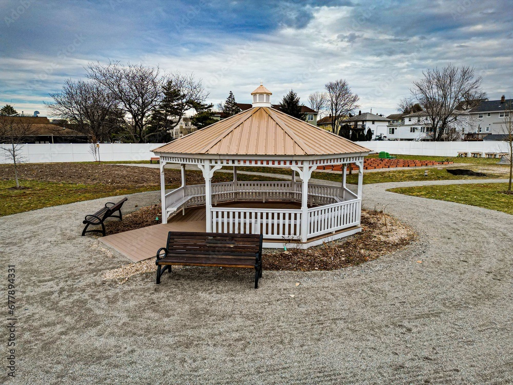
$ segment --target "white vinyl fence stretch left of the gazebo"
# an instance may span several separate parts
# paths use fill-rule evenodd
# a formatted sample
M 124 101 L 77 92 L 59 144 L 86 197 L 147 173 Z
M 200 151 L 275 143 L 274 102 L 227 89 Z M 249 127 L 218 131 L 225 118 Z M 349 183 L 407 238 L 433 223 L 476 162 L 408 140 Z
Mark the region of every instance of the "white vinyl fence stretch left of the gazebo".
M 0 144 L 0 147 L 10 147 Z M 101 161 L 141 161 L 153 157 L 152 149 L 162 146 L 161 143 L 100 143 Z M 19 151 L 24 162 L 93 162 L 94 156 L 87 143 L 56 143 L 56 144 L 24 144 Z M 10 158 L 0 153 L 0 163 L 11 163 Z

